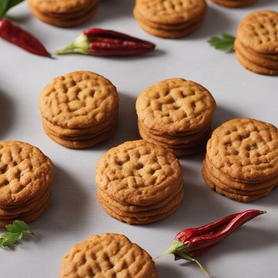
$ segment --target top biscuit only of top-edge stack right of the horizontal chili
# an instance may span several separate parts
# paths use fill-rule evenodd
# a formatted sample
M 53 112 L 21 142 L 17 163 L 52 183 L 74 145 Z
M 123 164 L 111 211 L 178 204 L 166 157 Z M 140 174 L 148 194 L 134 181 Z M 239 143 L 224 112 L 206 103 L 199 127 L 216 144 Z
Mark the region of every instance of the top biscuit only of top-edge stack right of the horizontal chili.
M 204 0 L 136 0 L 138 12 L 158 24 L 190 22 L 205 13 Z

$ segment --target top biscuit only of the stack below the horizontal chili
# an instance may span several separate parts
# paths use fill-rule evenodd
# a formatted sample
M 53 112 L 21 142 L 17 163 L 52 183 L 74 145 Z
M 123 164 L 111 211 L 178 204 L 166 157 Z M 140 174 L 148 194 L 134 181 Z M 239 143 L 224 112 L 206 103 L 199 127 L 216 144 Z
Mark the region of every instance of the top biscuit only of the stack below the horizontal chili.
M 94 72 L 56 77 L 40 95 L 42 117 L 65 128 L 86 128 L 104 122 L 119 106 L 117 89 Z

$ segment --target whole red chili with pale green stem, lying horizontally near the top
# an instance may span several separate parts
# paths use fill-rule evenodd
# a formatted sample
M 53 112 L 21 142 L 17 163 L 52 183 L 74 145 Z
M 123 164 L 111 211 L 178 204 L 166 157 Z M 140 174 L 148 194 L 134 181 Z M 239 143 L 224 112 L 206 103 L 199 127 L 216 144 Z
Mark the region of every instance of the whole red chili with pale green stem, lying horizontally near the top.
M 92 56 L 133 56 L 153 51 L 152 42 L 140 40 L 124 33 L 100 28 L 90 28 L 79 35 L 72 44 L 56 54 L 85 54 Z

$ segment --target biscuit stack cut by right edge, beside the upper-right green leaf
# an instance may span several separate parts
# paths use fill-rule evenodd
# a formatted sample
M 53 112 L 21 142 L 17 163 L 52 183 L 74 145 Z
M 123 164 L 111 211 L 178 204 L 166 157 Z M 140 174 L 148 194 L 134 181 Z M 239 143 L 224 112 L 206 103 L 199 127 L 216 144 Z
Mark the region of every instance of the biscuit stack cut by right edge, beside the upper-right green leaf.
M 271 10 L 251 13 L 240 22 L 234 49 L 247 70 L 278 75 L 277 26 L 278 13 Z

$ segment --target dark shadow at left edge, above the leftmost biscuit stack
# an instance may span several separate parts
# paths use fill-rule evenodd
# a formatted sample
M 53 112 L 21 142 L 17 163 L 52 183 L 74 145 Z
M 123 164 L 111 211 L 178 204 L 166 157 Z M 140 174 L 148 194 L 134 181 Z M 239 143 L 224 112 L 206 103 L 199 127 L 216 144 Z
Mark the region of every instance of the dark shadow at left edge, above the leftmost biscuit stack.
M 15 105 L 13 101 L 0 89 L 0 140 L 13 126 Z

